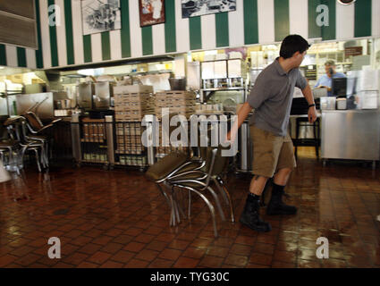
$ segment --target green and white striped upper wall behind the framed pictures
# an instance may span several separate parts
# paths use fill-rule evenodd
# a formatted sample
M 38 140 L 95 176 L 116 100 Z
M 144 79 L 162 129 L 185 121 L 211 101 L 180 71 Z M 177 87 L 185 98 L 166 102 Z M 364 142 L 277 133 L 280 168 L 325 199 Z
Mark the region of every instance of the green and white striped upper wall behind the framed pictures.
M 83 36 L 80 0 L 35 0 L 38 51 L 0 45 L 0 64 L 54 68 L 124 58 L 280 42 L 288 34 L 341 40 L 380 36 L 380 0 L 237 0 L 236 11 L 182 19 L 181 0 L 165 0 L 165 23 L 139 27 L 139 0 L 120 0 L 122 29 Z M 61 25 L 48 25 L 58 5 Z M 328 17 L 326 17 L 328 15 Z M 328 26 L 319 27 L 317 17 Z

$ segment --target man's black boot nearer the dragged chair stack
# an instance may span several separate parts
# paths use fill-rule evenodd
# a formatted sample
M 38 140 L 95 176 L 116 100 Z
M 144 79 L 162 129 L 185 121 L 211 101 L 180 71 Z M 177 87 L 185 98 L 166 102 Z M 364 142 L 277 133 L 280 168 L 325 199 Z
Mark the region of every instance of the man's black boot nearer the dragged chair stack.
M 260 200 L 258 198 L 255 195 L 248 195 L 240 222 L 254 231 L 272 231 L 270 223 L 264 222 L 259 216 Z

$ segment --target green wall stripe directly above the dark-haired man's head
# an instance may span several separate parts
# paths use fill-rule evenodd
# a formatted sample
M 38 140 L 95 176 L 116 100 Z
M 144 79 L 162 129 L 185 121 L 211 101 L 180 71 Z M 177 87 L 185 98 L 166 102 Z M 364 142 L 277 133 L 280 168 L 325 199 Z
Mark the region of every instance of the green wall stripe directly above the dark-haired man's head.
M 274 40 L 280 42 L 289 33 L 289 0 L 274 0 Z

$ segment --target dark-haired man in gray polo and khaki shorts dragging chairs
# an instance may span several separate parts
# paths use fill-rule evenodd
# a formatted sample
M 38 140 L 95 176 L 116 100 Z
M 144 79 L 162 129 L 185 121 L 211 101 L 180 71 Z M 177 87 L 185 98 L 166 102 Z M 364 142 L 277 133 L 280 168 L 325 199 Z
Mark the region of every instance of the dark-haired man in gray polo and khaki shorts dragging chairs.
M 311 88 L 299 70 L 308 47 L 308 42 L 299 35 L 290 35 L 283 39 L 280 57 L 258 75 L 247 102 L 239 111 L 238 121 L 227 135 L 227 139 L 234 140 L 242 122 L 252 108 L 255 109 L 249 119 L 254 177 L 250 182 L 249 196 L 240 219 L 241 223 L 255 231 L 272 230 L 271 225 L 259 216 L 259 202 L 266 181 L 273 176 L 274 188 L 266 214 L 297 213 L 295 206 L 283 203 L 283 189 L 296 166 L 287 127 L 294 87 L 300 88 L 308 101 L 308 121 L 317 120 Z

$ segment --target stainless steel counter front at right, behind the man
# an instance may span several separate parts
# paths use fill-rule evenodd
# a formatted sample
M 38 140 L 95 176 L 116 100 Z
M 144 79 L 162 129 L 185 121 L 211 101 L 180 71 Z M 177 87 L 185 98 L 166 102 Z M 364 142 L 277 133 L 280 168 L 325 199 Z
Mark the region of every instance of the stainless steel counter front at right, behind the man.
M 321 130 L 323 159 L 380 159 L 380 110 L 324 110 Z

